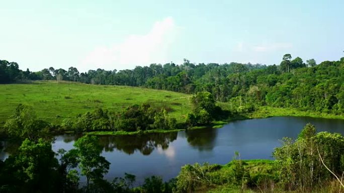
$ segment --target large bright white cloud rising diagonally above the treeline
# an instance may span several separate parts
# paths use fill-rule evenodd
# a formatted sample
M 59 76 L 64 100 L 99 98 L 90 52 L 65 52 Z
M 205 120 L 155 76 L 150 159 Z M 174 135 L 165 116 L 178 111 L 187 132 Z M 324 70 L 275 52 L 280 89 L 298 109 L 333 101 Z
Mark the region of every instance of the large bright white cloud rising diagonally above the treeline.
M 120 44 L 96 48 L 82 64 L 88 69 L 121 70 L 168 62 L 168 48 L 174 42 L 178 29 L 173 18 L 165 18 L 155 22 L 145 35 L 130 35 Z

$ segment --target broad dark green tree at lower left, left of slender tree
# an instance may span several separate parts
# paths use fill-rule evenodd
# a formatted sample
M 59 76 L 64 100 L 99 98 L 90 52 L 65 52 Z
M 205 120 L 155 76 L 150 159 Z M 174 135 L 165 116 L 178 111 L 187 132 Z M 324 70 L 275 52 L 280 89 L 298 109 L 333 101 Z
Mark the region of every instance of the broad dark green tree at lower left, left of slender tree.
M 50 141 L 38 139 L 34 142 L 26 139 L 17 154 L 9 157 L 6 163 L 15 168 L 11 175 L 18 177 L 18 181 L 25 182 L 22 184 L 24 187 L 18 188 L 32 192 L 58 192 L 58 161 Z

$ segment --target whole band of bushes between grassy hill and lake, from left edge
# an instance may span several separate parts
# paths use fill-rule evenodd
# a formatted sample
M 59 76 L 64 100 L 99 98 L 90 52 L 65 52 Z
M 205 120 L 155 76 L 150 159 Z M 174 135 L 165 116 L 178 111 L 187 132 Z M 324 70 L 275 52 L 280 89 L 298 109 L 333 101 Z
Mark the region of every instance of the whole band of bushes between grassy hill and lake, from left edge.
M 52 133 L 73 131 L 145 131 L 152 129 L 172 130 L 183 127 L 175 118 L 169 117 L 165 109 L 150 107 L 149 104 L 132 105 L 121 112 L 101 108 L 93 112 L 67 118 L 54 125 L 36 117 L 32 107 L 20 104 L 0 131 L 10 137 L 28 138 L 50 136 Z

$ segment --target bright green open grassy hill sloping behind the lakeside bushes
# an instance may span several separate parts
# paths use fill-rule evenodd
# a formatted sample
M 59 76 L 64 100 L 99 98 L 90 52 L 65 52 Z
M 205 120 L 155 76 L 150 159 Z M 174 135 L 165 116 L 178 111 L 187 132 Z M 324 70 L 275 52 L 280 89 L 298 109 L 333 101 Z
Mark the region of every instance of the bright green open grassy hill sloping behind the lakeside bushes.
M 0 85 L 0 124 L 18 104 L 33 106 L 37 117 L 51 123 L 100 107 L 119 111 L 132 104 L 166 107 L 170 116 L 184 121 L 191 111 L 190 95 L 128 86 L 88 85 L 72 82 L 37 81 L 32 84 Z

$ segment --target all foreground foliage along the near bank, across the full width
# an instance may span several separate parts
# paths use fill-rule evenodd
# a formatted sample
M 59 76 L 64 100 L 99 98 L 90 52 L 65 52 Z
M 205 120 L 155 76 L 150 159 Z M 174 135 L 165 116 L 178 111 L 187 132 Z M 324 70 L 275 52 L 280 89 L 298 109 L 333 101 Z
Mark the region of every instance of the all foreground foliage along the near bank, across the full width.
M 164 145 L 158 141 L 154 145 L 163 148 Z M 166 139 L 163 138 L 162 141 Z M 120 147 L 120 143 L 117 145 Z M 276 160 L 241 160 L 236 152 L 228 164 L 187 164 L 182 167 L 179 175 L 169 182 L 163 182 L 158 176 L 151 176 L 136 187 L 135 175 L 128 173 L 113 181 L 103 179 L 110 163 L 101 156 L 103 145 L 97 137 L 83 136 L 74 146 L 75 148 L 68 152 L 58 150 L 57 156 L 51 149 L 51 141 L 24 140 L 16 153 L 5 161 L 0 161 L 0 190 L 137 193 L 229 190 L 339 192 L 337 182 L 333 181 L 333 175 L 324 165 L 338 176 L 344 168 L 344 137 L 337 133 L 316 133 L 311 124 L 304 127 L 296 140 L 282 139 L 282 146 L 274 151 Z M 59 161 L 56 157 L 59 157 Z M 79 184 L 77 167 L 80 174 L 87 178 L 87 184 L 83 187 Z

